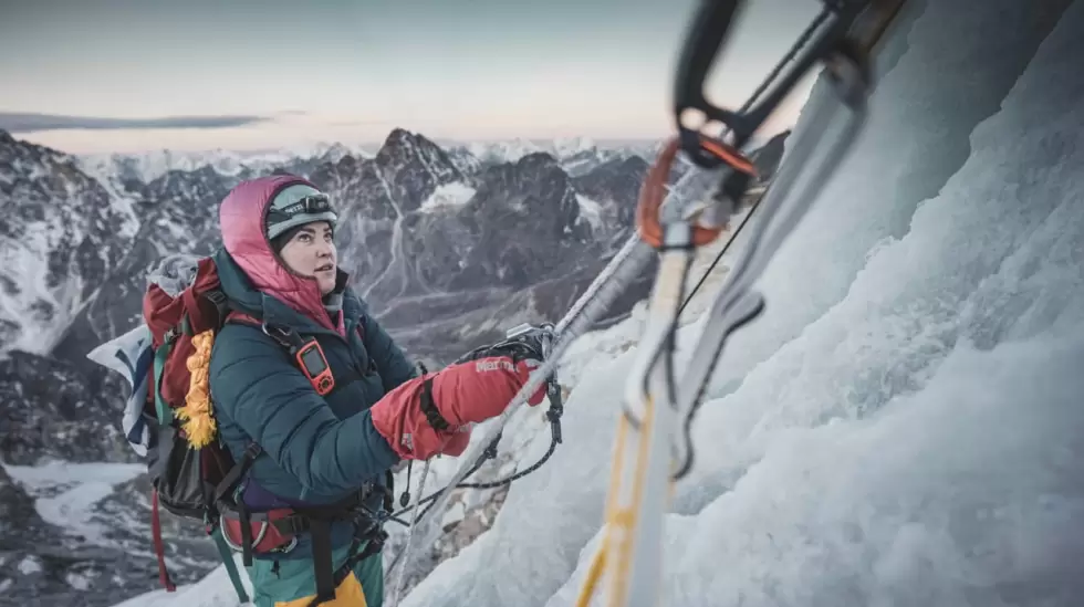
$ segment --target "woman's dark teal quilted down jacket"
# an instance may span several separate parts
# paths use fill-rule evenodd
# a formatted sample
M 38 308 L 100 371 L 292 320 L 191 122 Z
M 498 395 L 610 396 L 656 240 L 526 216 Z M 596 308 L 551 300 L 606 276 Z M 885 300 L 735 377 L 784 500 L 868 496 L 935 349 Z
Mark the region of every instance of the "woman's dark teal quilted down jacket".
M 216 254 L 222 290 L 240 311 L 313 336 L 337 378 L 353 375 L 327 397 L 313 389 L 288 352 L 258 326 L 228 323 L 218 334 L 210 360 L 210 391 L 219 433 L 234 459 L 251 441 L 263 453 L 246 482 L 286 502 L 326 504 L 366 482 L 384 486 L 384 474 L 399 459 L 376 431 L 368 409 L 386 393 L 416 376 L 414 365 L 366 306 L 343 289 L 346 337 L 313 322 L 272 295 L 253 289 L 225 250 Z M 340 275 L 341 284 L 345 274 Z M 252 504 L 259 507 L 259 504 Z M 369 507 L 381 506 L 379 492 Z M 333 544 L 350 542 L 352 527 L 336 525 Z M 308 535 L 280 558 L 311 558 Z

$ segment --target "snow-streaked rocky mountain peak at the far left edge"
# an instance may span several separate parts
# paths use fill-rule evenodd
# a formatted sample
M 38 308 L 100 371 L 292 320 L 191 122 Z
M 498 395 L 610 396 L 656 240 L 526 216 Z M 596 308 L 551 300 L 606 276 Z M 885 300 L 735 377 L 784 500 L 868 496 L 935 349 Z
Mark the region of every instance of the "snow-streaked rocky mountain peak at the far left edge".
M 74 157 L 3 137 L 0 145 L 0 354 L 44 353 L 116 268 L 135 210 Z

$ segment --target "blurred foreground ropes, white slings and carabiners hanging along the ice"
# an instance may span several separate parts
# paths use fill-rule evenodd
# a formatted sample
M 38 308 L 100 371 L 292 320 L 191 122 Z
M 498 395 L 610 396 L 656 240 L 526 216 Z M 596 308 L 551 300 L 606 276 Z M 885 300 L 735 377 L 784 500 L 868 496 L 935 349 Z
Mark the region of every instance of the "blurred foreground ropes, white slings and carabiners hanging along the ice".
M 407 546 L 389 567 L 390 573 L 399 565 L 399 583 L 407 568 L 410 548 L 416 545 L 413 542 L 415 535 L 423 536 L 421 545 L 431 543 L 435 530 L 430 527 L 435 516 L 425 514 L 429 511 L 442 512 L 451 489 L 470 486 L 462 484 L 463 479 L 473 473 L 480 462 L 496 454 L 496 441 L 509 419 L 543 383 L 552 380 L 569 346 L 586 333 L 625 285 L 636 279 L 653 258 L 657 258 L 649 314 L 626 385 L 623 415 L 618 418 L 602 547 L 591 563 L 577 605 L 586 606 L 590 603 L 607 567 L 613 568 L 606 593 L 608 605 L 654 606 L 657 603 L 663 515 L 674 483 L 691 470 L 691 422 L 708 380 L 726 338 L 764 310 L 763 297 L 752 291 L 752 284 L 803 217 L 810 200 L 820 192 L 861 127 L 865 96 L 872 80 L 868 55 L 904 0 L 822 2 L 822 11 L 816 19 L 738 111 L 710 104 L 703 95 L 703 82 L 742 3 L 738 0 L 701 2 L 678 62 L 673 108 L 678 135 L 667 143 L 645 179 L 636 210 L 636 233 L 553 327 L 543 364 L 531 374 L 484 437 L 463 453 L 462 460 L 468 463 L 444 489 L 426 498 L 425 501 L 430 503 L 423 515 L 419 516 L 417 511 L 421 501 L 415 504 L 415 520 Z M 786 65 L 792 62 L 793 65 L 788 69 Z M 824 75 L 843 105 L 851 111 L 851 119 L 811 170 L 809 160 L 814 153 L 823 149 L 822 138 L 833 117 L 831 111 L 837 106 L 817 104 L 812 107 L 813 115 L 807 121 L 807 128 L 794 137 L 796 142 L 790 146 L 790 153 L 762 200 L 729 234 L 705 276 L 686 294 L 686 280 L 697 249 L 715 242 L 727 231 L 750 184 L 758 177 L 755 165 L 741 151 L 742 147 L 798 82 L 816 65 L 824 67 Z M 772 83 L 774 86 L 771 86 Z M 689 123 L 696 114 L 705 121 L 695 128 Z M 708 134 L 708 127 L 715 125 L 723 126 L 727 133 L 719 136 Z M 668 196 L 666 184 L 674 163 L 681 156 L 695 167 L 682 176 Z M 715 196 L 705 201 L 681 200 L 678 192 L 698 169 L 721 172 Z M 813 175 L 807 178 L 812 182 L 796 186 L 802 171 Z M 799 193 L 791 197 L 792 191 Z M 706 314 L 702 334 L 678 380 L 673 354 L 680 312 L 742 231 L 753 211 L 760 211 L 761 218 Z M 560 410 L 559 407 L 557 416 Z M 680 426 L 679 419 L 684 419 Z M 553 444 L 559 438 L 557 435 Z M 399 589 L 397 584 L 389 605 L 396 605 Z

